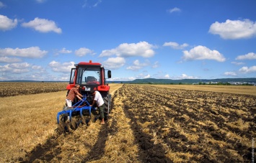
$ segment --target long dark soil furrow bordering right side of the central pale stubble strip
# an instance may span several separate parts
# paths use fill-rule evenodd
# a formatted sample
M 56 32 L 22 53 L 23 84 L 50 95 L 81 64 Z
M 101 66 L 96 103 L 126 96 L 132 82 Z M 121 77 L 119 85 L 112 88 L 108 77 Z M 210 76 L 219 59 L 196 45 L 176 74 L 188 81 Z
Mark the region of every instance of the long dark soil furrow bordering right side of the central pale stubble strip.
M 123 95 L 125 95 L 125 97 L 131 96 L 131 91 L 127 91 L 127 88 L 124 86 L 119 89 L 118 96 Z M 134 143 L 139 146 L 138 160 L 141 160 L 141 162 L 172 162 L 172 160 L 165 157 L 165 150 L 162 144 L 154 144 L 154 142 L 151 141 L 153 136 L 143 132 L 143 129 L 137 123 L 137 119 L 135 118 L 136 116 L 133 111 L 131 111 L 131 107 L 127 100 L 127 98 L 123 99 L 123 111 L 126 117 L 131 118 L 129 124 L 131 125 L 131 129 L 135 136 Z

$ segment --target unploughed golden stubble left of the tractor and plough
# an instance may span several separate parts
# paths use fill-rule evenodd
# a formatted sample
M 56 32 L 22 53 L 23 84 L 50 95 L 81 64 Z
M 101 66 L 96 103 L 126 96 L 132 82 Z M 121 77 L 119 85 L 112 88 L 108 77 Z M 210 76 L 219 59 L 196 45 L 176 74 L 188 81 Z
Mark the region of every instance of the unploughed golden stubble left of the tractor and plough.
M 53 134 L 66 91 L 0 98 L 0 162 L 19 157 Z

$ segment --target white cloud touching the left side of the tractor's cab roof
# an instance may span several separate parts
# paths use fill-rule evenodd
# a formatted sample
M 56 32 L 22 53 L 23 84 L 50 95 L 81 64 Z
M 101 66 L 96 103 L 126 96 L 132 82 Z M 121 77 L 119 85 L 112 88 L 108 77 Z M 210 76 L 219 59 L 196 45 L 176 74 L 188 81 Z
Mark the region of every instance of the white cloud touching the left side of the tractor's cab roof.
M 53 60 L 48 64 L 48 66 L 54 71 L 58 73 L 70 73 L 71 68 L 74 68 L 75 62 L 56 62 Z

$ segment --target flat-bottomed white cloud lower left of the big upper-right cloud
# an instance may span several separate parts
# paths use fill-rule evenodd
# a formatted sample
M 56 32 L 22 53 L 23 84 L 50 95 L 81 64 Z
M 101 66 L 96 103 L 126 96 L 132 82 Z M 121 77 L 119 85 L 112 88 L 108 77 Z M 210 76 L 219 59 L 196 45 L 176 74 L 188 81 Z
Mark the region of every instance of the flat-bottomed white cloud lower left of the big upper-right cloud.
M 183 60 L 216 60 L 218 62 L 224 62 L 226 59 L 217 50 L 210 50 L 204 46 L 197 46 L 191 49 L 183 51 Z

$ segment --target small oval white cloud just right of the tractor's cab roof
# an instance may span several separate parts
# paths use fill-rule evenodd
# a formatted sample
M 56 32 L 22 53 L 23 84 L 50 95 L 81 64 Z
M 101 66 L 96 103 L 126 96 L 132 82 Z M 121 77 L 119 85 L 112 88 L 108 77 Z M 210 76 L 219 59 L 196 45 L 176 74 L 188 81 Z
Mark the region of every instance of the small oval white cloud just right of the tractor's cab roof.
M 106 68 L 117 69 L 125 65 L 125 59 L 123 57 L 110 57 L 102 63 Z

